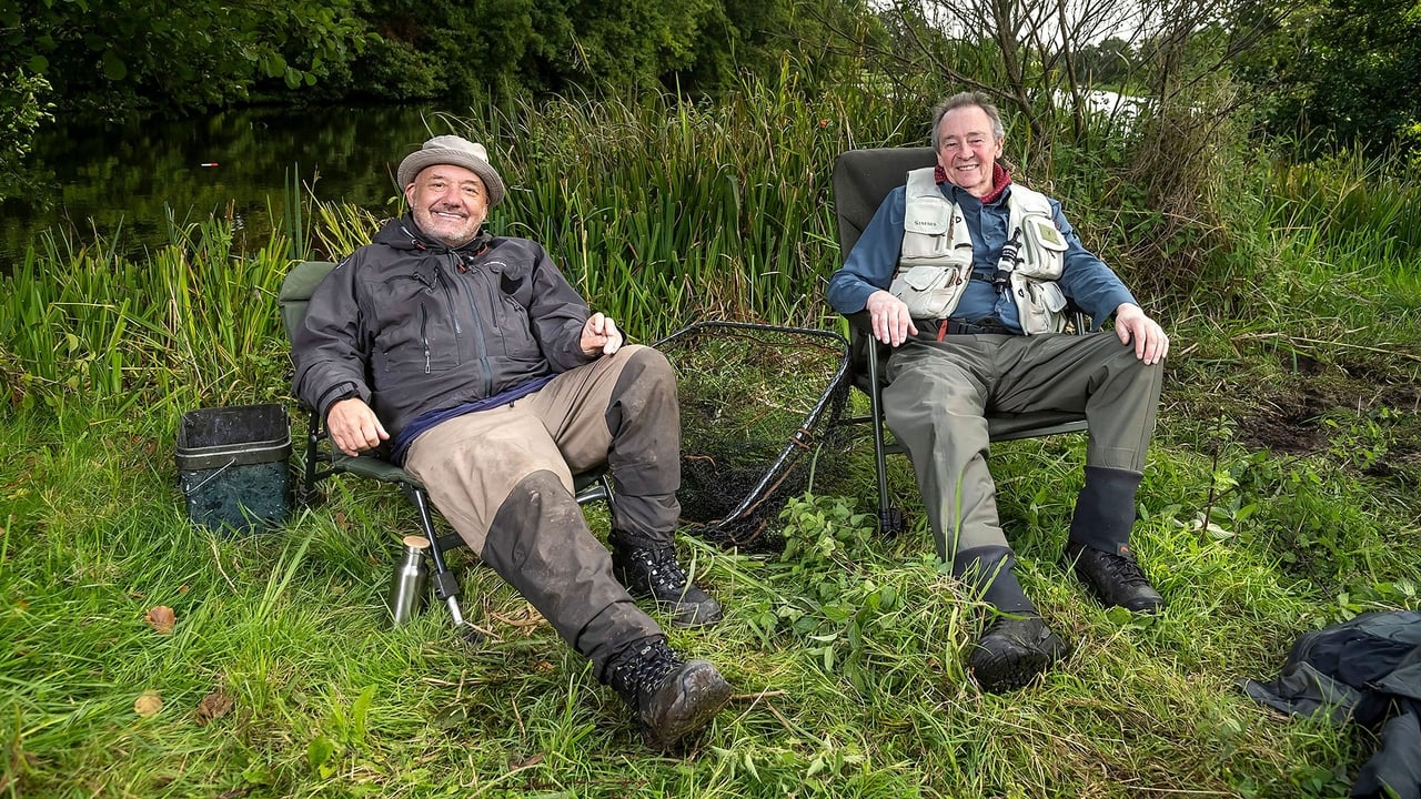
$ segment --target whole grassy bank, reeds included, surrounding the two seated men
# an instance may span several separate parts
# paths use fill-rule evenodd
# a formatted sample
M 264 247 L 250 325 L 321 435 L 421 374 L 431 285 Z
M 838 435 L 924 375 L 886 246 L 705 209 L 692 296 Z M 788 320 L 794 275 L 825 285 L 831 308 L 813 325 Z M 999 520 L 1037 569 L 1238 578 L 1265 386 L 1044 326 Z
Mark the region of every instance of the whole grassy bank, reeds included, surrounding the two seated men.
M 722 314 L 834 324 L 818 291 L 837 263 L 828 163 L 907 138 L 881 121 L 902 115 L 863 102 L 477 124 L 537 142 L 504 154 L 520 189 L 499 225 L 549 240 L 598 307 L 652 338 Z M 580 127 L 605 136 L 567 136 Z M 213 220 L 142 263 L 41 249 L 0 287 L 0 792 L 1344 796 L 1374 739 L 1263 711 L 1236 681 L 1273 675 L 1302 631 L 1421 607 L 1421 272 L 1398 223 L 1410 183 L 1312 169 L 1236 165 L 1226 229 L 1198 239 L 1204 267 L 1148 297 L 1175 340 L 1137 526 L 1164 616 L 1106 613 L 1056 564 L 1084 439 L 996 446 L 1023 583 L 1076 651 L 1040 684 L 983 695 L 962 671 L 979 614 L 932 563 L 922 515 L 878 537 L 867 448 L 821 454 L 861 479 L 826 476 L 790 503 L 790 557 L 682 537 L 728 618 L 674 644 L 737 697 L 666 756 L 487 569 L 458 566 L 490 640 L 456 640 L 438 610 L 385 627 L 396 540 L 415 530 L 387 490 L 337 482 L 253 537 L 188 523 L 179 415 L 290 402 L 274 307 L 287 233 L 237 253 Z M 368 225 L 331 206 L 307 219 L 330 250 Z M 1140 257 L 1104 240 L 1107 260 Z M 145 620 L 156 606 L 169 633 Z

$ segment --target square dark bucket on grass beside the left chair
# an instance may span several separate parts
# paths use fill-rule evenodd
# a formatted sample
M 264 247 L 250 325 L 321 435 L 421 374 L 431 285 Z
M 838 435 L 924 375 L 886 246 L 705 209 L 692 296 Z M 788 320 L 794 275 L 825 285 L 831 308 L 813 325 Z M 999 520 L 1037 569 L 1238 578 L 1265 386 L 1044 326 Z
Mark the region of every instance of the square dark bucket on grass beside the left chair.
M 291 425 L 281 405 L 188 411 L 176 452 L 188 516 L 198 525 L 250 533 L 291 515 Z

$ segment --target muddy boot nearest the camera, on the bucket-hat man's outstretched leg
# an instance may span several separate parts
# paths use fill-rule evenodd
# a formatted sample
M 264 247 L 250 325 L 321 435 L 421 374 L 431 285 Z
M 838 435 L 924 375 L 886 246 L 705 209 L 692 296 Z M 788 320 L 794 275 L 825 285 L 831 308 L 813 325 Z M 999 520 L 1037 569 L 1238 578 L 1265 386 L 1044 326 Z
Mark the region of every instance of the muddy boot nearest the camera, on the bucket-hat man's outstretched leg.
M 645 726 L 647 745 L 669 749 L 710 724 L 730 701 L 730 684 L 703 660 L 684 660 L 661 638 L 627 647 L 607 667 L 612 687 Z

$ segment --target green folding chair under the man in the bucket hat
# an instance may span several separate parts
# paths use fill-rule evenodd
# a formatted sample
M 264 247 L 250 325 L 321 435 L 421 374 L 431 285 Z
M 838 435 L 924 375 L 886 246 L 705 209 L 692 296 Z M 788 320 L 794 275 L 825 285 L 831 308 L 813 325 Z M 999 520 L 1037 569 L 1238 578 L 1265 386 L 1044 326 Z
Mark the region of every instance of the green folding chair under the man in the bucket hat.
M 330 262 L 307 260 L 296 264 L 281 281 L 281 291 L 277 301 L 281 307 L 281 323 L 286 327 L 287 340 L 306 318 L 306 307 L 311 300 L 315 287 L 334 269 Z M 391 463 L 372 452 L 362 452 L 355 458 L 333 446 L 325 432 L 325 419 L 307 408 L 310 424 L 306 434 L 306 456 L 301 478 L 297 485 L 296 499 L 307 506 L 318 495 L 317 483 L 331 475 L 357 475 L 371 478 L 384 483 L 399 486 L 401 493 L 415 506 L 419 529 L 429 540 L 429 560 L 432 564 L 431 583 L 435 597 L 448 604 L 455 627 L 463 627 L 463 613 L 459 610 L 459 581 L 445 563 L 445 552 L 465 546 L 458 533 L 439 536 L 435 532 L 433 513 L 431 510 L 429 495 L 425 486 L 409 472 Z M 578 505 L 607 499 L 610 485 L 605 469 L 574 475 Z

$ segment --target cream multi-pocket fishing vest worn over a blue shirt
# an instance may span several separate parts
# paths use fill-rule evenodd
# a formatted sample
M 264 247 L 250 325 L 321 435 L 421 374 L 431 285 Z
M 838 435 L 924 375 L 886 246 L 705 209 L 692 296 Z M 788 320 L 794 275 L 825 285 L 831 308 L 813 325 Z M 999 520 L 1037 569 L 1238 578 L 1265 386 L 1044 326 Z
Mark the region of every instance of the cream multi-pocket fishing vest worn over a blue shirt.
M 1066 328 L 1061 276 L 1066 237 L 1056 229 L 1046 195 L 1013 185 L 1007 196 L 1007 242 L 993 283 L 1010 290 L 1027 336 Z M 972 279 L 972 233 L 958 203 L 942 196 L 934 168 L 908 172 L 907 210 L 898 272 L 888 291 L 914 318 L 952 316 Z

